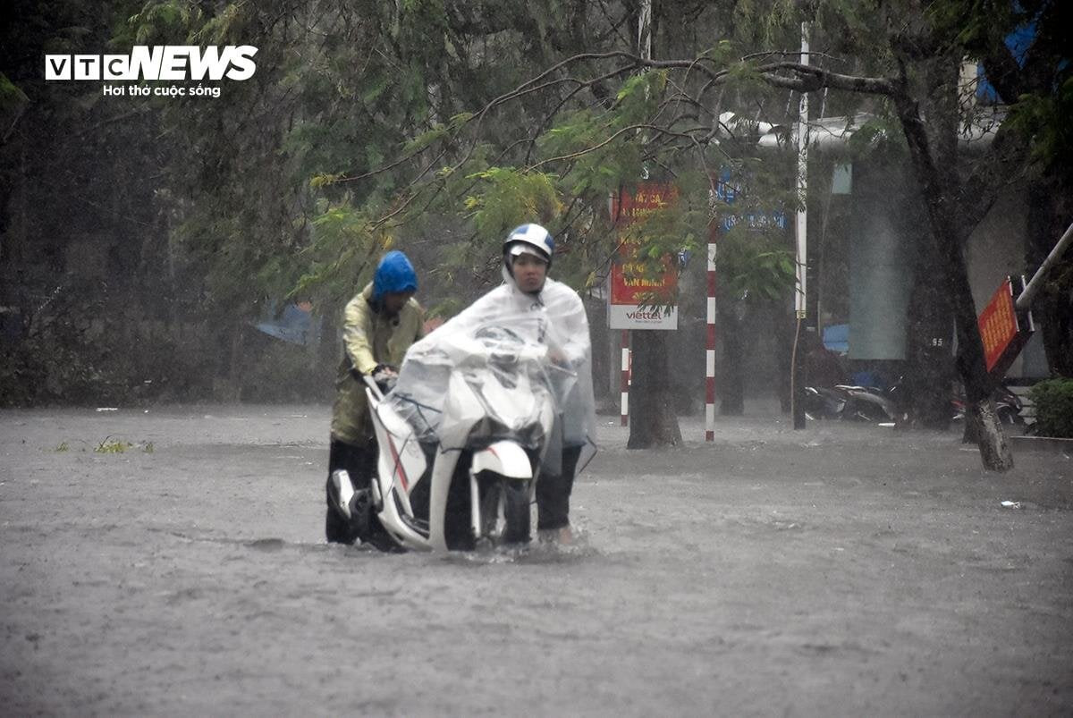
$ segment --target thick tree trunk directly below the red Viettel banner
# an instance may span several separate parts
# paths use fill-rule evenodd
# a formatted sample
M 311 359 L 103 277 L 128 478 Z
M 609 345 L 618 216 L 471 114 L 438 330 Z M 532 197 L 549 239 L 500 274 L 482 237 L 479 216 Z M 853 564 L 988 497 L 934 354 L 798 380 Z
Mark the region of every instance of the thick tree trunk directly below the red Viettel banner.
M 630 439 L 627 449 L 676 446 L 681 430 L 674 412 L 667 363 L 667 333 L 633 333 L 633 382 L 630 386 Z

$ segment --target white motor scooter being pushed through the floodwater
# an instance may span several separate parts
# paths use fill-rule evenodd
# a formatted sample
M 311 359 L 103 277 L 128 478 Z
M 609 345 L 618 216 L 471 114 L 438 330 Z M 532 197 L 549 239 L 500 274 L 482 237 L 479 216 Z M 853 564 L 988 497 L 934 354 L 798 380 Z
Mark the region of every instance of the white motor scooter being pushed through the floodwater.
M 403 548 L 527 542 L 557 412 L 552 373 L 562 370 L 546 346 L 502 326 L 447 339 L 408 355 L 386 397 L 366 378 L 380 446 L 372 512 Z M 439 402 L 422 400 L 430 392 Z

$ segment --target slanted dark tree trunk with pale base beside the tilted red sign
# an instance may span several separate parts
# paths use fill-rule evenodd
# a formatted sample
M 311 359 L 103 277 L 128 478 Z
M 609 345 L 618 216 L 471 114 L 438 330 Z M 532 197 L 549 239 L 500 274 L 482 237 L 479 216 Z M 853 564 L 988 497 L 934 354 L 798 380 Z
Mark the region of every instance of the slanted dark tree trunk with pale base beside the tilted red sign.
M 981 421 L 978 437 L 980 458 L 984 468 L 989 471 L 1008 471 L 1013 468 L 1013 453 L 994 409 L 987 411 L 982 407 L 989 401 L 991 380 L 984 363 L 984 345 L 976 324 L 976 307 L 972 299 L 962 249 L 964 237 L 958 231 L 955 215 L 954 190 L 959 182 L 955 175 L 954 158 L 932 157 L 920 107 L 906 86 L 895 92 L 893 100 L 909 144 L 913 170 L 924 192 L 931 234 L 946 290 L 950 292 L 957 329 L 957 368 L 965 383 L 966 404 L 969 408 L 967 414 L 975 414 Z

